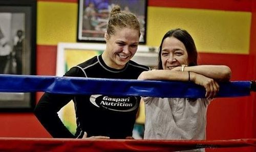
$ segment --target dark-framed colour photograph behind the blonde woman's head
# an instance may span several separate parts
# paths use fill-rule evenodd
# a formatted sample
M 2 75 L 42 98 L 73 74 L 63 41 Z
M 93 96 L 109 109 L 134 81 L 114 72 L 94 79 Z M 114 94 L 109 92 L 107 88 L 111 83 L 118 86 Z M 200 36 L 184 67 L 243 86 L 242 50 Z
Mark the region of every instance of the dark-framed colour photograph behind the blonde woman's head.
M 146 43 L 147 0 L 79 0 L 77 41 L 104 41 L 104 33 L 113 6 L 134 13 L 141 25 L 140 44 Z

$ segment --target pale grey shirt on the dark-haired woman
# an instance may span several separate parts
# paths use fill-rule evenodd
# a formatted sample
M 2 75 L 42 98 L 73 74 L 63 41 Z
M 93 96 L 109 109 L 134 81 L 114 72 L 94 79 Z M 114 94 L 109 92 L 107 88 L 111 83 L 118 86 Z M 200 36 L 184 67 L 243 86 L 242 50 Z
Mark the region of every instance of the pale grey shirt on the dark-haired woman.
M 144 139 L 205 140 L 209 100 L 155 97 L 143 97 L 143 100 Z

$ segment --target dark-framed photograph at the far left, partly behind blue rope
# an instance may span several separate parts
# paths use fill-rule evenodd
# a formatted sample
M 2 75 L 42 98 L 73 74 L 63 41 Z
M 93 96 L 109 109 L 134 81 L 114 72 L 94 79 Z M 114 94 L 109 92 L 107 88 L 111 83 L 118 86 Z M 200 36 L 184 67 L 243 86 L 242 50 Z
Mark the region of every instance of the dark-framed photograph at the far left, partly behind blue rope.
M 36 0 L 0 0 L 0 74 L 35 75 Z M 0 93 L 1 112 L 32 111 L 34 93 Z

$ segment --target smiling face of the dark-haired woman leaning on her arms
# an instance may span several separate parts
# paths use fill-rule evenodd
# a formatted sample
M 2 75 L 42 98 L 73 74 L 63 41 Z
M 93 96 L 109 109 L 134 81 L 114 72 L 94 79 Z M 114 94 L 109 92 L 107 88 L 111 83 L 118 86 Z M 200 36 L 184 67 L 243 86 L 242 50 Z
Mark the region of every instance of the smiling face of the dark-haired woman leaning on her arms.
M 188 65 L 188 54 L 184 44 L 175 37 L 165 38 L 162 45 L 161 60 L 164 70 L 172 70 L 182 64 Z

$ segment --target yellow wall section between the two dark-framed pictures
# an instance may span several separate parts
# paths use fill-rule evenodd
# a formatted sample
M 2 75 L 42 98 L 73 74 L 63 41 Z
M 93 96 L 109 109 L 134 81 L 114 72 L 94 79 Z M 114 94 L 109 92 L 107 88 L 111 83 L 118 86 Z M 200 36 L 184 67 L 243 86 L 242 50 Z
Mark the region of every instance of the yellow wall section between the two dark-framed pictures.
M 76 42 L 77 4 L 37 2 L 37 44 Z

